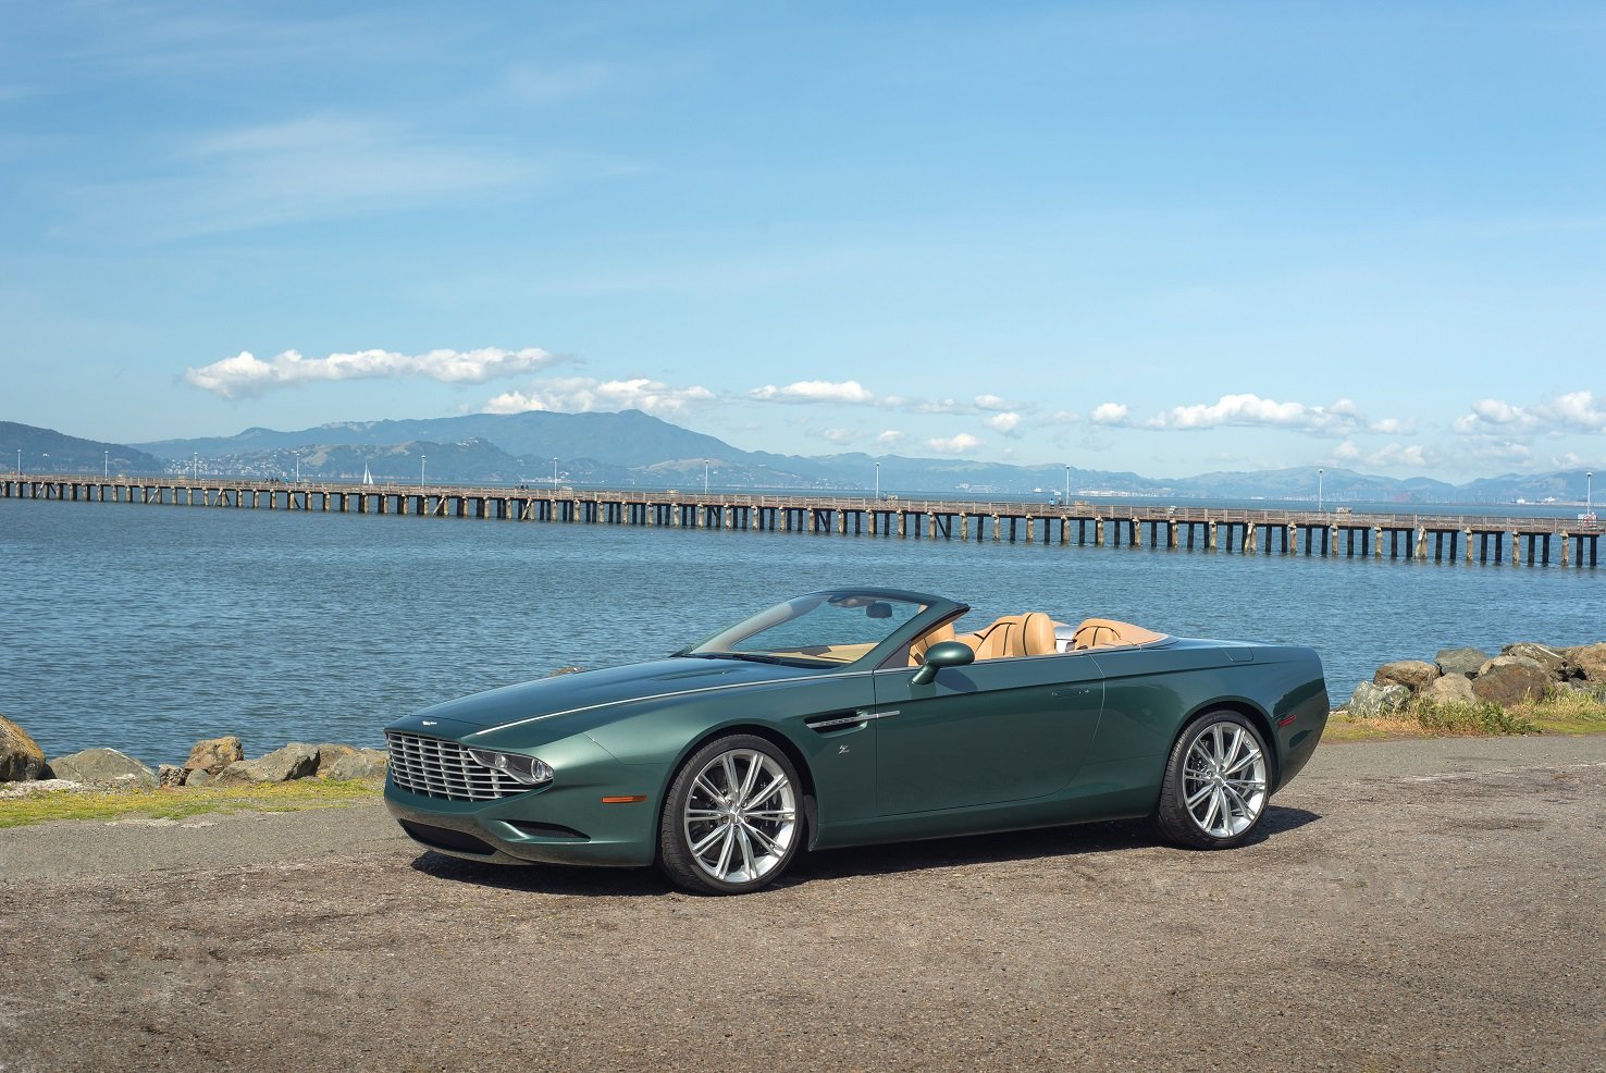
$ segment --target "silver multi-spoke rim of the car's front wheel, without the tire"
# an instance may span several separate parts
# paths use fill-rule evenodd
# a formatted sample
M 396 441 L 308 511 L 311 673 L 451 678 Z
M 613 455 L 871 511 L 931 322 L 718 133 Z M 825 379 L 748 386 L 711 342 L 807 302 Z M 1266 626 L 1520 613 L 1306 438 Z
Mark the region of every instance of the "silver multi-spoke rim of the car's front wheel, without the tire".
M 758 749 L 728 749 L 697 768 L 681 808 L 695 866 L 731 887 L 768 879 L 797 837 L 793 782 L 776 757 Z

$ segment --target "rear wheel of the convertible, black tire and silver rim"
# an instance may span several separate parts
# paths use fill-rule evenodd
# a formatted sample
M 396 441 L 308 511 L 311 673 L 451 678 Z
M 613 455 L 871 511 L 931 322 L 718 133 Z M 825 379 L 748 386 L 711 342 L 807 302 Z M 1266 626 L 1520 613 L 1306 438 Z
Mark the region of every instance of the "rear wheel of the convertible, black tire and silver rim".
M 1182 728 L 1166 761 L 1155 822 L 1172 845 L 1230 850 L 1266 818 L 1270 758 L 1254 723 L 1206 712 Z

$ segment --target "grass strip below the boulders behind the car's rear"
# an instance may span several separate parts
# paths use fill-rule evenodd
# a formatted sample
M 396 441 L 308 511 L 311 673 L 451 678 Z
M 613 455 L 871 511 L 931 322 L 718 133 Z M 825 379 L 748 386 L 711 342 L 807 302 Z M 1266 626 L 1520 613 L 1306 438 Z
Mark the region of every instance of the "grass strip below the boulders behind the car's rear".
M 1429 704 L 1418 699 L 1404 712 L 1372 720 L 1336 712 L 1328 718 L 1322 740 L 1601 732 L 1606 732 L 1606 691 L 1590 694 L 1551 689 L 1543 700 L 1514 708 L 1502 708 L 1492 700 Z

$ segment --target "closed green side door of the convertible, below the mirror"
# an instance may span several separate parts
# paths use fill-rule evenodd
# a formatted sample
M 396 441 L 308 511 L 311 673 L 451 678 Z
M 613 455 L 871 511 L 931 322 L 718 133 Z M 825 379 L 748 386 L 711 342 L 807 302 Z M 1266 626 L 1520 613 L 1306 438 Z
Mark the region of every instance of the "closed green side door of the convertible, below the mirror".
M 875 673 L 883 816 L 1021 802 L 1066 787 L 1099 729 L 1103 678 L 1079 652 L 991 659 L 912 684 Z

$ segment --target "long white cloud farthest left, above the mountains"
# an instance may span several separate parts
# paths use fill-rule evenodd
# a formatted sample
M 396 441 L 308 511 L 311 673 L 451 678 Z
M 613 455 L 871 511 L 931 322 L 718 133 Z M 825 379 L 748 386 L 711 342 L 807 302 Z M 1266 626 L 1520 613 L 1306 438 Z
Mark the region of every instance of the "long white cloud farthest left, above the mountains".
M 365 381 L 426 377 L 445 384 L 483 384 L 503 376 L 533 373 L 562 361 L 540 347 L 501 350 L 430 350 L 397 353 L 393 350 L 357 350 L 304 358 L 286 350 L 267 361 L 249 350 L 231 358 L 185 369 L 185 381 L 222 398 L 252 398 L 276 387 L 292 387 L 312 381 Z

